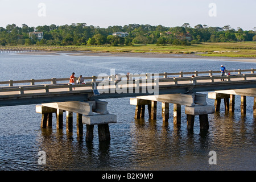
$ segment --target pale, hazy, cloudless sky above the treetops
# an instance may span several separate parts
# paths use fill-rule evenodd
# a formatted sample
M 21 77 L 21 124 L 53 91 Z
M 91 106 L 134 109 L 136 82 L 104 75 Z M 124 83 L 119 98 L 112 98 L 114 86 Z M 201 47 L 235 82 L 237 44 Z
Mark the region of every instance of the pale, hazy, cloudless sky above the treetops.
M 0 27 L 86 23 L 88 26 L 150 24 L 164 27 L 256 27 L 256 0 L 0 0 Z

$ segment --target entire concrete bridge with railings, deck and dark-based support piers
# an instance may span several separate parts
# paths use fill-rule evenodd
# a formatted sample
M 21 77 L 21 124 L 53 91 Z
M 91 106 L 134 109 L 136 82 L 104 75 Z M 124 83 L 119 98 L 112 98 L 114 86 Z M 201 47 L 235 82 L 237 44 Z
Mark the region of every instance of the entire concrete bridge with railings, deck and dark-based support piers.
M 43 128 L 51 127 L 52 113 L 56 113 L 57 129 L 62 129 L 63 111 L 66 111 L 66 127 L 71 132 L 72 113 L 77 113 L 77 134 L 82 134 L 85 124 L 86 140 L 92 140 L 94 125 L 98 125 L 99 139 L 110 139 L 108 124 L 117 122 L 117 118 L 109 114 L 108 102 L 101 101 L 108 98 L 130 97 L 130 104 L 136 106 L 135 118 L 144 117 L 147 105 L 149 117 L 155 119 L 156 103 L 162 102 L 163 121 L 168 121 L 169 103 L 174 104 L 176 125 L 180 124 L 180 105 L 185 105 L 188 129 L 193 129 L 195 115 L 200 116 L 200 129 L 208 129 L 208 114 L 218 111 L 222 98 L 225 108 L 229 109 L 230 105 L 232 111 L 234 95 L 241 95 L 243 110 L 245 97 L 256 97 L 255 71 L 227 71 L 231 74 L 224 77 L 225 81 L 221 81 L 220 71 L 91 76 L 84 77 L 83 84 L 75 85 L 68 84 L 69 78 L 1 81 L 0 106 L 40 104 L 36 112 L 42 114 Z M 209 98 L 215 100 L 215 106 L 209 106 L 206 94 L 198 92 L 210 92 Z

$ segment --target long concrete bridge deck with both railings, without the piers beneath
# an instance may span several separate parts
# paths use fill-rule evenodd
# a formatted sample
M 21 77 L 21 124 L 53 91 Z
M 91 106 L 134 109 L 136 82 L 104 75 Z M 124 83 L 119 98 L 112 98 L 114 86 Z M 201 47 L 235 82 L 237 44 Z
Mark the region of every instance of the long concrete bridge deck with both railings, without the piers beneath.
M 92 80 L 81 85 L 69 85 L 67 82 L 57 83 L 57 81 L 65 81 L 68 78 L 2 81 L 0 85 L 6 84 L 9 86 L 0 88 L 0 106 L 250 89 L 256 88 L 256 73 L 254 71 L 254 69 L 239 69 L 236 75 L 232 73 L 232 75 L 225 76 L 226 81 L 220 81 L 221 76 L 213 75 L 213 73 L 219 73 L 219 71 L 123 75 L 121 76 L 125 78 L 123 80 L 115 80 L 115 76 L 93 76 L 85 77 L 85 79 Z M 250 73 L 242 74 L 242 72 Z M 184 77 L 185 74 L 191 73 L 194 73 L 195 77 Z M 199 76 L 200 73 L 208 73 L 208 76 Z M 179 77 L 168 77 L 175 74 Z M 51 83 L 35 85 L 35 82 L 47 81 Z M 30 85 L 14 85 L 24 83 L 29 83 Z M 97 86 L 100 95 L 94 94 L 93 89 L 95 86 Z

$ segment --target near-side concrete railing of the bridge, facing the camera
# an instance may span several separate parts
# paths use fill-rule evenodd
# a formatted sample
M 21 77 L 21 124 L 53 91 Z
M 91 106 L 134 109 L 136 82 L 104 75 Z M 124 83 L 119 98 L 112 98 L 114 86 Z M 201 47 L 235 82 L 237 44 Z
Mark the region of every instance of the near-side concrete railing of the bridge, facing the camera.
M 220 79 L 225 78 L 225 82 L 220 82 Z M 252 79 L 253 78 L 253 79 Z M 205 80 L 209 80 L 205 82 Z M 215 80 L 218 80 L 217 82 Z M 127 89 L 129 89 L 129 84 L 133 84 L 133 86 L 137 87 L 139 84 L 159 84 L 159 82 L 166 82 L 166 85 L 184 85 L 184 86 L 190 86 L 190 85 L 197 85 L 197 84 L 213 84 L 213 82 L 216 82 L 217 84 L 228 84 L 228 83 L 243 83 L 243 81 L 247 80 L 256 80 L 256 73 L 250 73 L 250 74 L 238 74 L 238 75 L 228 75 L 225 77 L 221 77 L 218 75 L 213 76 L 197 76 L 197 77 L 169 77 L 169 78 L 148 78 L 147 80 L 123 80 L 121 82 L 117 81 L 97 81 L 97 85 L 99 83 L 103 83 L 103 86 L 101 86 L 100 89 L 113 89 L 113 86 L 117 88 L 117 86 L 126 86 Z M 204 82 L 202 82 L 204 81 Z M 96 82 L 90 82 L 89 84 L 48 84 L 48 85 L 24 85 L 24 86 L 6 86 L 0 88 L 1 92 L 9 92 L 7 95 L 11 94 L 34 94 L 34 93 L 49 93 L 49 92 L 73 92 L 77 91 L 77 89 L 73 90 L 73 88 L 84 88 L 83 90 L 92 90 L 94 89 L 94 83 Z M 127 85 L 126 85 L 127 84 Z M 134 85 L 135 84 L 135 85 Z M 108 87 L 110 85 L 110 87 Z M 163 86 L 166 86 L 163 85 Z M 104 86 L 107 86 L 106 88 Z M 152 85 L 151 85 L 152 86 Z M 160 84 L 159 84 L 160 86 Z M 54 90 L 55 89 L 55 90 Z M 60 89 L 60 90 L 57 90 Z M 64 89 L 64 90 L 63 90 Z M 35 91 L 35 92 L 30 92 Z M 14 93 L 11 93 L 14 92 Z M 3 94 L 5 95 L 5 94 Z

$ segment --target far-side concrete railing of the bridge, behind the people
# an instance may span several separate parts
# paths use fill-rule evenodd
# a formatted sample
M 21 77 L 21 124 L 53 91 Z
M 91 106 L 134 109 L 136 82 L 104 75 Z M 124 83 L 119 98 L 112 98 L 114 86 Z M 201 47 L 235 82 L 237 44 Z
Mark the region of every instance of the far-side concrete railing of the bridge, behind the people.
M 250 72 L 251 74 L 253 74 L 256 71 L 256 69 L 236 69 L 236 70 L 228 70 L 226 72 L 231 73 L 231 75 L 234 76 L 234 74 L 238 74 L 238 75 L 242 75 L 242 73 L 248 73 Z M 177 77 L 185 77 L 188 75 L 194 75 L 195 77 L 199 77 L 199 75 L 203 75 L 203 76 L 216 76 L 217 74 L 220 74 L 220 71 L 194 71 L 194 72 L 177 72 L 177 73 L 145 73 L 144 77 L 145 78 L 170 78 L 169 76 L 173 76 L 171 78 L 175 78 L 174 76 Z M 217 75 L 219 76 L 219 75 Z M 138 75 L 133 75 L 133 74 L 127 74 L 127 75 L 119 75 L 119 78 L 126 78 L 126 80 L 136 80 L 136 78 L 139 77 Z M 214 77 L 213 77 L 214 78 Z M 212 78 L 212 79 L 213 79 Z M 75 77 L 75 82 L 78 78 Z M 196 80 L 198 79 L 203 79 L 203 78 L 196 78 Z M 205 78 L 208 79 L 208 78 Z M 115 75 L 110 75 L 110 76 L 91 76 L 91 77 L 84 77 L 84 80 L 89 80 L 86 81 L 86 83 L 90 83 L 90 82 L 96 82 L 96 81 L 114 81 L 115 80 Z M 35 79 L 31 79 L 31 80 L 9 80 L 9 81 L 0 81 L 0 85 L 8 85 L 8 86 L 14 86 L 14 84 L 30 84 L 30 85 L 36 85 L 35 83 L 42 83 L 40 85 L 46 85 L 48 82 L 48 84 L 68 84 L 69 82 L 69 78 L 50 78 L 50 79 L 39 79 L 39 80 L 35 80 Z M 39 85 L 39 84 L 38 84 Z M 20 85 L 21 86 L 21 85 Z M 22 85 L 23 86 L 23 85 Z

